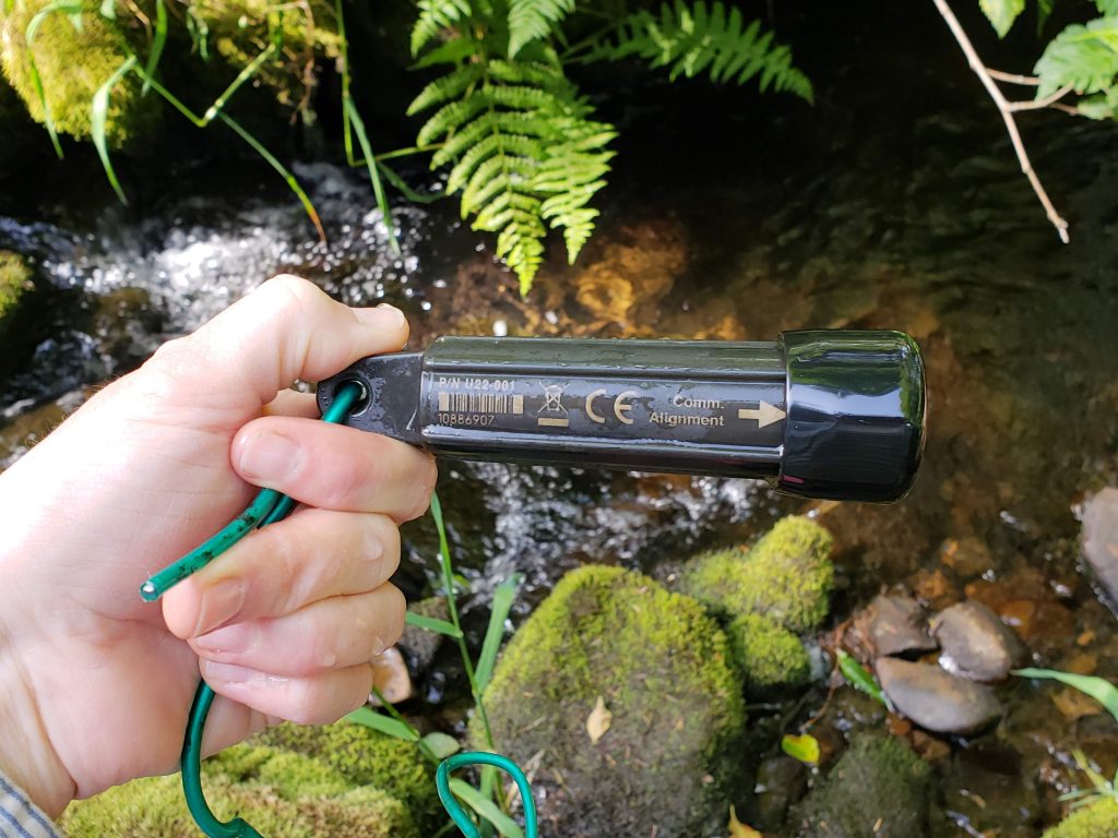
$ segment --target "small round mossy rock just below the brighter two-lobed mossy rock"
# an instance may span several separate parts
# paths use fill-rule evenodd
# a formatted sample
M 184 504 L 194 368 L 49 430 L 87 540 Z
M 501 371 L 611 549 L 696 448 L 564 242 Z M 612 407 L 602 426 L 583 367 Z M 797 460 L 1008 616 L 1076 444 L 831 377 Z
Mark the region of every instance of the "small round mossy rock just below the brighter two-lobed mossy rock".
M 812 661 L 804 644 L 767 617 L 742 615 L 727 627 L 726 634 L 750 693 L 800 687 L 811 678 Z

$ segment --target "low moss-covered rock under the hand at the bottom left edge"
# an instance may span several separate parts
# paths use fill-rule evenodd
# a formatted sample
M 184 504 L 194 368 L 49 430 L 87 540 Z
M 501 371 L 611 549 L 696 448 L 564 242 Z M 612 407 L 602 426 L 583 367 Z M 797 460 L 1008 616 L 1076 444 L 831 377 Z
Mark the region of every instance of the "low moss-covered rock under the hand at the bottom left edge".
M 388 741 L 348 723 L 301 730 L 322 743 L 316 750 L 332 751 L 333 744 L 343 747 L 326 756 L 248 743 L 206 761 L 207 800 L 219 818 L 243 817 L 268 838 L 421 838 L 429 834 L 434 779 L 421 765 L 419 772 L 413 770 L 415 745 Z M 367 763 L 360 772 L 341 764 L 347 749 L 357 742 L 369 746 L 360 753 Z M 134 780 L 74 803 L 61 826 L 74 838 L 198 835 L 177 775 Z

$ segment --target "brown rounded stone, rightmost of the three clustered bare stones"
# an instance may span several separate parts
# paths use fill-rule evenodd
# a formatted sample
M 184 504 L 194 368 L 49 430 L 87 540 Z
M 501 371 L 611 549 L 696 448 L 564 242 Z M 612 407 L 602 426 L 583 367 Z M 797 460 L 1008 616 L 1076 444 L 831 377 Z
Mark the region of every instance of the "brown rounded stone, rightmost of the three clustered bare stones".
M 936 615 L 931 634 L 944 650 L 940 665 L 973 680 L 1002 680 L 1025 658 L 1025 647 L 1013 629 L 974 600 Z

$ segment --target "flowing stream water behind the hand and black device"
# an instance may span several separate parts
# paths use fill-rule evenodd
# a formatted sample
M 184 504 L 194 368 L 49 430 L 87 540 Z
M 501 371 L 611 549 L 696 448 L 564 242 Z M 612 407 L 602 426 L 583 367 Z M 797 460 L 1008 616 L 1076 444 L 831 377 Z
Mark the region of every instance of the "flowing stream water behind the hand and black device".
M 888 585 L 931 603 L 966 594 L 1016 620 L 1038 663 L 1118 678 L 1118 620 L 1080 572 L 1074 514 L 1118 480 L 1115 128 L 1021 117 L 1071 221 L 1062 246 L 996 111 L 947 35 L 929 34 L 941 26 L 930 4 L 871 11 L 843 20 L 841 42 L 819 37 L 826 20 L 781 21 L 794 42 L 814 34 L 798 53 L 814 107 L 703 85 L 618 86 L 604 103 L 623 140 L 599 234 L 574 267 L 551 253 L 527 301 L 451 203 L 399 206 L 394 255 L 360 174 L 324 163 L 297 174 L 329 245 L 255 168 L 200 171 L 142 211 L 107 190 L 82 207 L 0 199 L 0 248 L 31 256 L 49 286 L 37 313 L 49 337 L 0 392 L 0 466 L 86 388 L 280 270 L 347 302 L 400 305 L 415 345 L 442 333 L 900 328 L 923 349 L 931 406 L 922 473 L 902 503 L 814 507 L 748 480 L 445 464 L 468 604 L 520 572 L 522 615 L 578 564 L 655 571 L 815 508 L 837 541 L 835 625 Z M 420 523 L 407 536 L 402 583 L 418 594 L 434 577 L 433 532 Z M 1109 717 L 1057 712 L 1026 685 L 1007 701 L 996 731 L 939 754 L 937 835 L 1039 835 L 1057 796 L 1082 783 L 1073 747 L 1111 775 L 1118 766 Z

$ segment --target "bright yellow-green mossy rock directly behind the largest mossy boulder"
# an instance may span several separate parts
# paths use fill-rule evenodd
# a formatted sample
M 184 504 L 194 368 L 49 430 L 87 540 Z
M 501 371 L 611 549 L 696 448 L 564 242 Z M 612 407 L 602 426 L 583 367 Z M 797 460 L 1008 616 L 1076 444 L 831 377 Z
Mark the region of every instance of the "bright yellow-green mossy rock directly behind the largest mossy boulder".
M 814 521 L 786 517 L 748 551 L 723 550 L 691 561 L 681 590 L 727 620 L 764 615 L 789 631 L 809 631 L 830 609 L 831 543 L 831 534 Z

